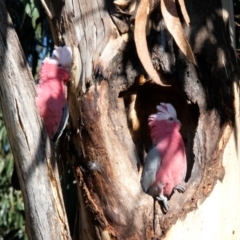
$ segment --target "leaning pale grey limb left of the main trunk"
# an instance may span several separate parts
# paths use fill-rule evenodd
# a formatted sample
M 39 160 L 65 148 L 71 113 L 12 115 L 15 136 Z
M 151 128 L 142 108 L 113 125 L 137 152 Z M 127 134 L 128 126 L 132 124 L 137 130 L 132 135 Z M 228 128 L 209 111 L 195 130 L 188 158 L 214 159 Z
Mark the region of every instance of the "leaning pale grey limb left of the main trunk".
M 23 194 L 28 239 L 70 239 L 57 165 L 35 94 L 24 53 L 0 0 L 0 104 Z

